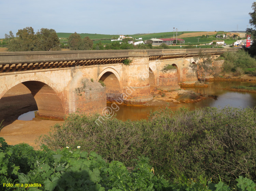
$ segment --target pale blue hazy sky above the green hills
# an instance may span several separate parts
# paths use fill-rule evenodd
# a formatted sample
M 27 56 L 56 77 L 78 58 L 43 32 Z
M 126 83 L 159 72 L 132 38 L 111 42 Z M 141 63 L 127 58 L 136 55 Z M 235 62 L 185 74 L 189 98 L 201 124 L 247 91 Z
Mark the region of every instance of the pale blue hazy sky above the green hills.
M 0 38 L 32 27 L 66 33 L 239 31 L 254 0 L 1 0 Z

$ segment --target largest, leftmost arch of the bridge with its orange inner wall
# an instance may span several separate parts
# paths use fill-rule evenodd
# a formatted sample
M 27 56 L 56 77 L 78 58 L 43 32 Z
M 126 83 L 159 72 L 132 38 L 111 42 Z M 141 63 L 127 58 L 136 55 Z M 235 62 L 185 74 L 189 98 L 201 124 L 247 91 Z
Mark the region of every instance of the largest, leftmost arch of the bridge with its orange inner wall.
M 12 87 L 15 87 L 18 84 L 23 84 L 33 95 L 37 104 L 37 115 L 39 117 L 46 119 L 63 119 L 65 112 L 57 87 L 53 85 L 50 79 L 41 77 L 25 75 L 20 78 L 16 77 L 15 81 L 6 82 L 5 88 L 0 92 L 0 98 L 2 98 Z

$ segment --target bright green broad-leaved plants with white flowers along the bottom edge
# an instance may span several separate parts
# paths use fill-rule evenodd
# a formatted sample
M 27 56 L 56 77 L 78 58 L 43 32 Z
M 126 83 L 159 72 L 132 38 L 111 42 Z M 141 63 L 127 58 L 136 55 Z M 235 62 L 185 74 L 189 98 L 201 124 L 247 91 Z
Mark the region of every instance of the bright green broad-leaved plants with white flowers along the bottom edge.
M 171 183 L 154 173 L 148 159 L 138 157 L 136 166 L 128 171 L 122 162 L 106 162 L 95 152 L 71 150 L 51 151 L 45 145 L 35 151 L 28 144 L 9 146 L 0 137 L 0 190 L 17 191 L 230 191 L 222 180 L 215 184 L 193 178 Z M 255 183 L 242 176 L 232 190 L 256 191 Z

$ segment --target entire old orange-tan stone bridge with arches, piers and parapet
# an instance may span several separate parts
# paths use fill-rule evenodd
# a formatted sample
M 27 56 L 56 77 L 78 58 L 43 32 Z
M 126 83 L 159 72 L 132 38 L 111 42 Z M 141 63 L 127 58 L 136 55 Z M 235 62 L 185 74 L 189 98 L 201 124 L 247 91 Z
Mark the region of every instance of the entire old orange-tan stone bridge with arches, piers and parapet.
M 201 49 L 216 57 L 232 49 Z M 0 99 L 22 83 L 33 95 L 38 116 L 101 113 L 106 101 L 140 104 L 153 99 L 150 89 L 176 89 L 193 83 L 190 70 L 199 49 L 40 51 L 0 53 Z M 130 65 L 123 64 L 126 59 Z M 162 72 L 165 65 L 176 70 Z M 105 84 L 105 87 L 99 83 Z M 22 100 L 20 100 L 22 101 Z

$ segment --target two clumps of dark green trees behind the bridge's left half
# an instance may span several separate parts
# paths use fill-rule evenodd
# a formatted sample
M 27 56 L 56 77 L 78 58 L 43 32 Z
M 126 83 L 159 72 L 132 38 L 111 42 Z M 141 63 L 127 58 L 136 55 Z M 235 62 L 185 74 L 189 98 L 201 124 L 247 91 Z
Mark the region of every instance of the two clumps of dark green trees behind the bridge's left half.
M 19 29 L 14 37 L 12 31 L 5 34 L 8 51 L 53 51 L 60 50 L 61 44 L 54 29 L 42 28 L 37 33 L 32 27 Z M 90 50 L 93 40 L 89 37 L 81 38 L 76 32 L 68 38 L 70 50 Z

